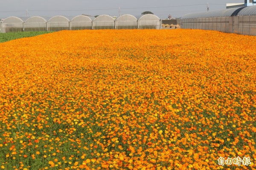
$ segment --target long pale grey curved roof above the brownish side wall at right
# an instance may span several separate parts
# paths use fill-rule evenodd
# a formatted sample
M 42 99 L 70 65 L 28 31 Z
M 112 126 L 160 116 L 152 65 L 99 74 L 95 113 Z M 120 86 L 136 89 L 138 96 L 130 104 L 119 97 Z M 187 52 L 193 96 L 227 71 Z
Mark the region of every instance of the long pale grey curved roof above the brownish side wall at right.
M 239 8 L 222 9 L 222 10 L 218 10 L 218 11 L 186 14 L 181 19 L 203 18 L 203 17 L 227 17 L 227 16 L 231 16 L 237 9 L 239 9 Z

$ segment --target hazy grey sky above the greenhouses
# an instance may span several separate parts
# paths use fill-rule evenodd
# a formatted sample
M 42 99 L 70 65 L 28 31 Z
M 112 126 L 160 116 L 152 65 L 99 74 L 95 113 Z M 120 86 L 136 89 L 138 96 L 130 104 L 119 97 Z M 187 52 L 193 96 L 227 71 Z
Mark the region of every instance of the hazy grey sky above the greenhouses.
M 0 0 L 0 18 L 9 16 L 92 16 L 108 14 L 140 15 L 151 11 L 161 19 L 182 17 L 184 14 L 226 9 L 226 3 L 243 3 L 244 0 Z

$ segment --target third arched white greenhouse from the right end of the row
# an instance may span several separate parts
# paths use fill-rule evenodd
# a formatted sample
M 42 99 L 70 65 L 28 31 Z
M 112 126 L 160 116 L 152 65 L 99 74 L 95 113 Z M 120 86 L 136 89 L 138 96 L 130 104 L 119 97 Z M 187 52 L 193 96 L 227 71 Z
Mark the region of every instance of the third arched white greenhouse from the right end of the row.
M 95 18 L 94 29 L 115 29 L 114 19 L 109 15 L 99 15 Z

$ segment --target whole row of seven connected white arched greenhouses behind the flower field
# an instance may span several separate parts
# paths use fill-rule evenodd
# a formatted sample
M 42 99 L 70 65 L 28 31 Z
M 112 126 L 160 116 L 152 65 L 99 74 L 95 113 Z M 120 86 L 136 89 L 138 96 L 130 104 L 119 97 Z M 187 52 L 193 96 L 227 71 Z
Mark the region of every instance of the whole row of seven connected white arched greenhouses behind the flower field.
M 89 17 L 8 17 L 0 23 L 0 32 L 60 31 L 79 29 L 160 29 L 161 20 L 153 14 L 134 17 L 122 15 L 116 20 L 109 15 Z

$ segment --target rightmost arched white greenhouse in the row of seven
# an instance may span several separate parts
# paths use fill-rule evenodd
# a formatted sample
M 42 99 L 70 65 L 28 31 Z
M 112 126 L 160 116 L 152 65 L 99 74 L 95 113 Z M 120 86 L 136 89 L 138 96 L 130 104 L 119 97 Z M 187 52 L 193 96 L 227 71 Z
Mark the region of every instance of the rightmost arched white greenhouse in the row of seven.
M 145 14 L 137 17 L 138 29 L 160 29 L 161 20 L 154 14 Z

